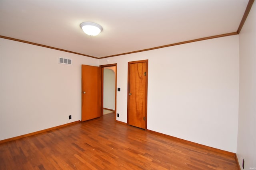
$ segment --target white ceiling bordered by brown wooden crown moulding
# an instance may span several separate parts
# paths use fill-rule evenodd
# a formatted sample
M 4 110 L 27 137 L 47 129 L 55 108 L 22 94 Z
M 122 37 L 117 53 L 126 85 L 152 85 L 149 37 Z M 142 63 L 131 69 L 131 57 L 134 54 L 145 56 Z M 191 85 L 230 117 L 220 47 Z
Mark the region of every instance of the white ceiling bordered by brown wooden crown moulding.
M 236 32 L 248 0 L 0 0 L 0 35 L 106 57 Z M 80 23 L 103 27 L 90 37 Z

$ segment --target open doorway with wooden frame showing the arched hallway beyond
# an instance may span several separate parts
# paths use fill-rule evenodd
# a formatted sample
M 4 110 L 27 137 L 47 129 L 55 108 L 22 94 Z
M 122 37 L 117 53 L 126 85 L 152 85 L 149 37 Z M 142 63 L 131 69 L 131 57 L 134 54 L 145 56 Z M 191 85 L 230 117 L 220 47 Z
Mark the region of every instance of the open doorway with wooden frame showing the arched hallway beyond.
M 102 71 L 102 114 L 116 115 L 116 70 L 117 64 L 101 65 Z M 116 118 L 115 118 L 116 119 Z

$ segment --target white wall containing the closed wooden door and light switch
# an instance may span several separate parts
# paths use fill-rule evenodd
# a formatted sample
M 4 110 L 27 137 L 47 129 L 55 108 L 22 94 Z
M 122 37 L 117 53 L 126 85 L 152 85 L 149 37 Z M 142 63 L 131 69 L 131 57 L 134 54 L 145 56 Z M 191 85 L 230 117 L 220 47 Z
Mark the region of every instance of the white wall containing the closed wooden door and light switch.
M 238 35 L 100 59 L 117 63 L 116 117 L 127 122 L 128 62 L 148 59 L 148 129 L 236 152 Z

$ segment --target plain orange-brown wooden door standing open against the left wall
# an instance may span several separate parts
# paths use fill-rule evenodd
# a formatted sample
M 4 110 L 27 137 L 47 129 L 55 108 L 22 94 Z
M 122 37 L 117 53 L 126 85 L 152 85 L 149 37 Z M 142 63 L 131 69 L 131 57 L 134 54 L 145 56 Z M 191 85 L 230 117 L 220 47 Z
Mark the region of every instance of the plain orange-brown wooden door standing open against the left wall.
M 101 69 L 82 65 L 82 121 L 101 116 Z

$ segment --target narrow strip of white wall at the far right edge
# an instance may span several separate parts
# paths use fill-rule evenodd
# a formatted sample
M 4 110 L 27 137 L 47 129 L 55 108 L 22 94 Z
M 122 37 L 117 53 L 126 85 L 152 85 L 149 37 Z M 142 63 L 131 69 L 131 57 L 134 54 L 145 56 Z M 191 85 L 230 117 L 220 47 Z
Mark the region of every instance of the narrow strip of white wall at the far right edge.
M 237 157 L 242 169 L 256 168 L 256 4 L 239 34 L 240 94 Z

